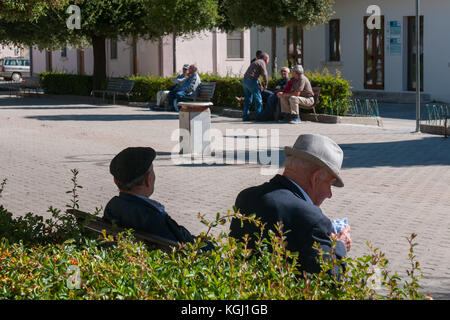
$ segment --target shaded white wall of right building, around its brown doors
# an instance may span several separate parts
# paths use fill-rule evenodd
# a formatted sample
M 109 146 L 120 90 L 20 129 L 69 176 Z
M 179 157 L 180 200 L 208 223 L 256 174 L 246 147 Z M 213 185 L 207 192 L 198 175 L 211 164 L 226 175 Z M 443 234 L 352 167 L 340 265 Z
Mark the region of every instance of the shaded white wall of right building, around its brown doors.
M 341 61 L 327 62 L 326 43 L 328 25 L 319 25 L 304 31 L 304 67 L 307 70 L 322 70 L 324 67 L 350 80 L 353 90 L 364 90 L 364 28 L 363 17 L 369 16 L 367 8 L 378 5 L 384 15 L 385 28 L 385 91 L 407 92 L 407 25 L 406 16 L 415 16 L 413 0 L 336 0 L 333 19 L 340 19 Z M 422 1 L 421 14 L 424 16 L 424 93 L 432 99 L 450 102 L 450 1 Z M 389 22 L 400 21 L 402 26 L 402 54 L 390 55 Z M 286 29 L 277 33 L 284 43 L 277 41 L 279 59 L 286 57 Z M 257 49 L 270 54 L 270 30 L 257 33 L 252 29 L 252 54 Z

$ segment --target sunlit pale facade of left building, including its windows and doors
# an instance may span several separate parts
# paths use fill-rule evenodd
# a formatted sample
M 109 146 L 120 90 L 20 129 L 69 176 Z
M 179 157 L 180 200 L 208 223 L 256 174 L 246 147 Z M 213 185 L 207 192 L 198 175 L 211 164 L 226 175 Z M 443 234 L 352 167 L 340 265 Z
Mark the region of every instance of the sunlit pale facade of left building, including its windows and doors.
M 175 50 L 174 50 L 175 46 Z M 250 62 L 250 30 L 226 34 L 205 31 L 190 38 L 167 36 L 160 41 L 106 40 L 108 77 L 171 76 L 184 64 L 195 64 L 200 73 L 242 76 Z M 175 62 L 173 57 L 175 58 Z M 32 50 L 32 71 L 92 74 L 93 49 Z

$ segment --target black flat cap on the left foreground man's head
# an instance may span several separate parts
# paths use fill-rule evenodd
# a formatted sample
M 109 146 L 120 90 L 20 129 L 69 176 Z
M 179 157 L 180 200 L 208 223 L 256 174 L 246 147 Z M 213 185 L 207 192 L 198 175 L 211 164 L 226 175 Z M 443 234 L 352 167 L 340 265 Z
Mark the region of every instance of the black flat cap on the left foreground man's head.
M 144 175 L 155 157 L 155 150 L 149 147 L 126 148 L 111 160 L 109 172 L 121 183 L 128 183 Z

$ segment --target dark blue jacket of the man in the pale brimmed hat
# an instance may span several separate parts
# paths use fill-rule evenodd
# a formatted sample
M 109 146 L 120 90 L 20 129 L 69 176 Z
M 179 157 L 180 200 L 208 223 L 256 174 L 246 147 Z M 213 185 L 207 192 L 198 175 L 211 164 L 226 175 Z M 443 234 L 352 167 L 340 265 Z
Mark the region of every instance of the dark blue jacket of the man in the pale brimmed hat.
M 318 253 L 313 244 L 319 243 L 319 248 L 330 253 L 331 221 L 319 207 L 306 202 L 292 181 L 282 175 L 276 175 L 270 182 L 243 190 L 237 196 L 235 205 L 240 213 L 256 214 L 256 218 L 259 217 L 263 223 L 267 223 L 264 233 L 267 238 L 268 229 L 278 235 L 275 225 L 281 221 L 287 249 L 299 253 L 300 269 L 310 273 L 320 271 L 320 265 L 316 261 Z M 249 222 L 244 222 L 241 228 L 241 221 L 238 219 L 232 220 L 230 230 L 230 236 L 236 239 L 241 239 L 245 234 L 253 236 L 251 248 L 254 247 L 254 233 L 260 232 L 258 227 Z M 337 241 L 334 256 L 340 259 L 346 253 L 344 243 Z

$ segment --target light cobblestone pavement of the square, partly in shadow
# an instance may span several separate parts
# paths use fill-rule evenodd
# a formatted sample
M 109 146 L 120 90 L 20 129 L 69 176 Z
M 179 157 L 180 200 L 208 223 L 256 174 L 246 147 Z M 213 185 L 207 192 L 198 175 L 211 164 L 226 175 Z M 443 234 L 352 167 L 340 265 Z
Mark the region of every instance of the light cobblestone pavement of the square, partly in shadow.
M 234 140 L 246 143 L 239 149 L 244 154 L 264 129 L 273 134 L 270 130 L 278 129 L 281 161 L 282 147 L 292 145 L 299 134 L 320 133 L 334 139 L 344 150 L 345 187 L 335 188 L 322 210 L 330 218 L 348 217 L 353 238 L 350 256 L 368 253 L 369 241 L 386 253 L 392 270 L 404 275 L 409 266 L 405 237 L 417 233 L 424 291 L 448 299 L 450 139 L 411 133 L 415 122 L 409 116 L 383 120 L 385 127 L 378 128 L 242 123 L 213 115 L 212 127 L 223 132 L 225 146 Z M 77 168 L 83 186 L 81 209 L 93 211 L 117 193 L 108 171 L 112 157 L 128 146 L 152 146 L 158 152 L 152 198 L 191 232 L 201 232 L 205 226 L 197 219 L 198 212 L 208 217 L 226 212 L 240 190 L 271 176 L 262 175 L 261 168 L 267 166 L 254 161 L 174 164 L 171 153 L 177 142 L 171 137 L 178 124 L 178 115 L 172 112 L 0 96 L 0 179 L 8 179 L 2 204 L 15 214 L 47 215 L 50 205 L 63 209 L 70 201 L 65 193 L 71 189 L 70 169 Z M 227 129 L 254 131 L 247 131 L 247 137 L 232 137 Z

